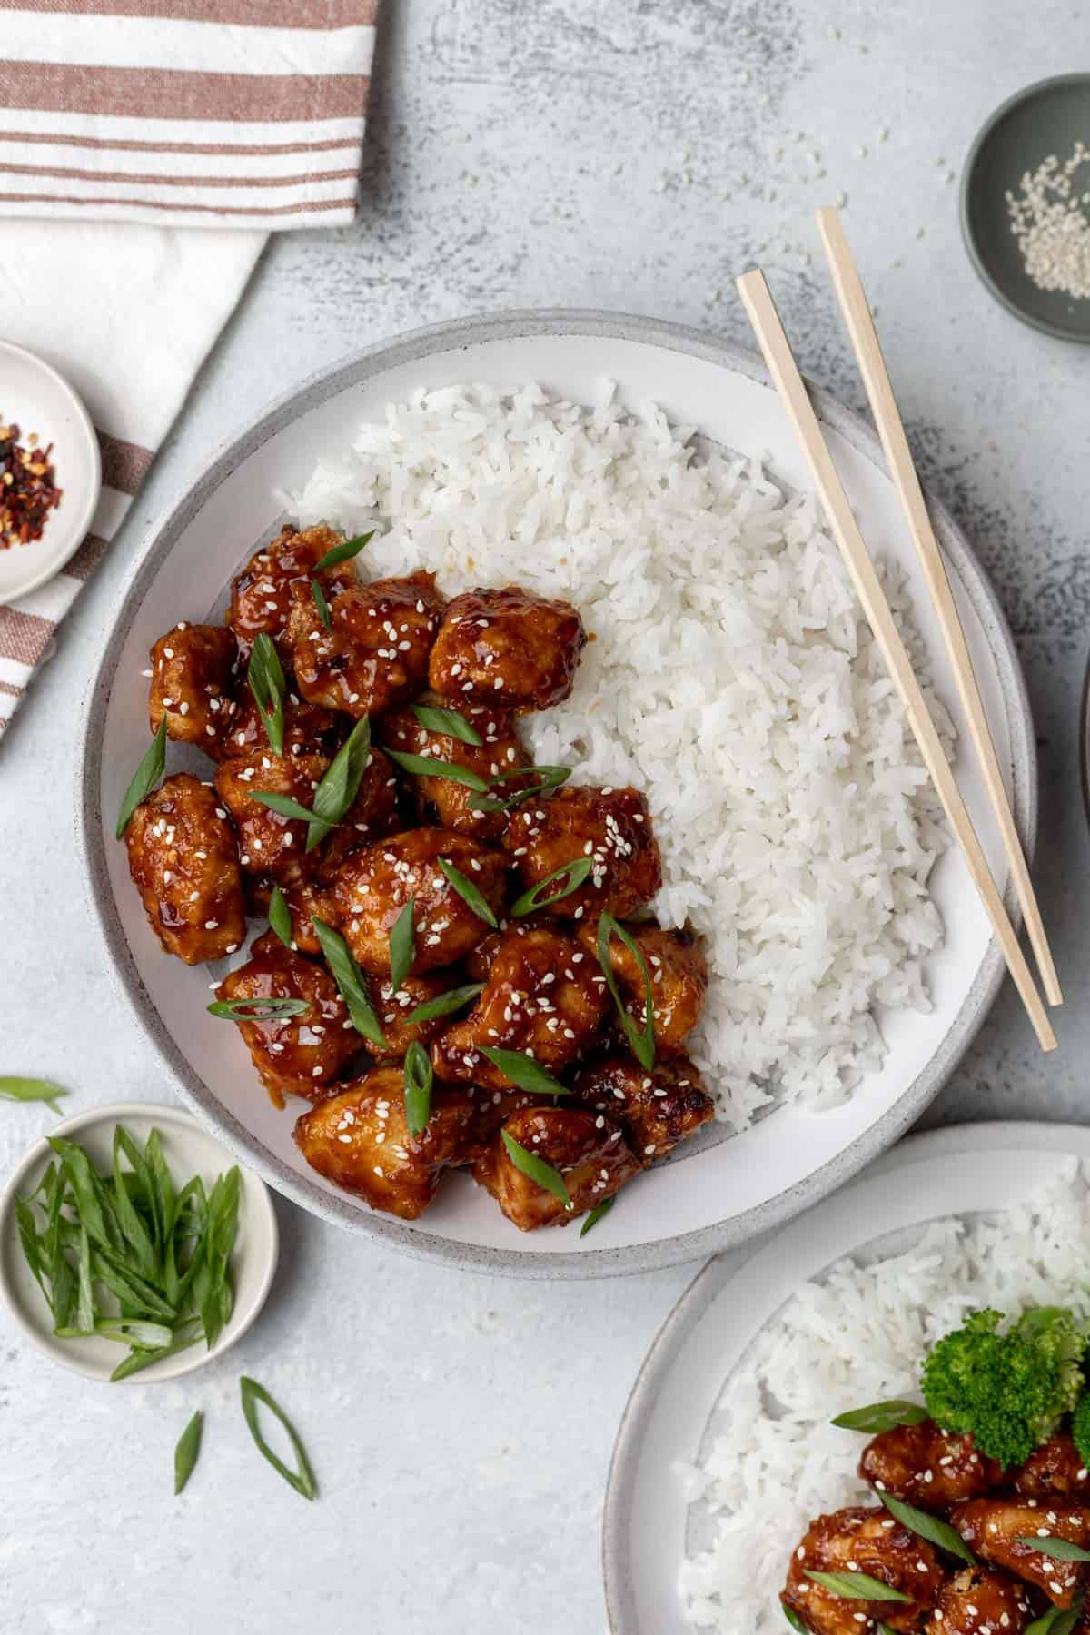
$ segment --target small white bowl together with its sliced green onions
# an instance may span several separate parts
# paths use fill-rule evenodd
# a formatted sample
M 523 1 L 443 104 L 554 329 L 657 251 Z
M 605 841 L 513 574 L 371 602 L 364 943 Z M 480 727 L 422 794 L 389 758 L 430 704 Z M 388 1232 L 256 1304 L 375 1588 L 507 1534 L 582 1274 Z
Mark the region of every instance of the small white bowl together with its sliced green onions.
M 11 1315 L 92 1380 L 172 1380 L 222 1355 L 261 1310 L 276 1257 L 265 1182 L 176 1107 L 62 1120 L 0 1197 Z

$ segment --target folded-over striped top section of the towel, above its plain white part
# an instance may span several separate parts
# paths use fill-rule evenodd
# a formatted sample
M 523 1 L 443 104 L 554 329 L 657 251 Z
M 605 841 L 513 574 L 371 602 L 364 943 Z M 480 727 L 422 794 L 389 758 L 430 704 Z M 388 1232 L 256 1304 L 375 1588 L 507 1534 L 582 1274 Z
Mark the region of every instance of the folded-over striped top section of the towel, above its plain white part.
M 0 214 L 351 221 L 377 0 L 0 0 Z

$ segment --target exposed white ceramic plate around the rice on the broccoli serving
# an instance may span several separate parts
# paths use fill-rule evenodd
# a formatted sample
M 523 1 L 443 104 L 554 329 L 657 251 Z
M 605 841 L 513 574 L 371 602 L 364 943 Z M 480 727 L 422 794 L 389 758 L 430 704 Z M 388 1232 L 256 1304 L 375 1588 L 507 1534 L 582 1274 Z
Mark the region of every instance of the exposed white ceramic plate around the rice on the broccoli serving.
M 695 1511 L 675 1463 L 696 1463 L 716 1408 L 763 1328 L 807 1279 L 848 1254 L 907 1252 L 928 1221 L 1012 1208 L 1090 1158 L 1077 1125 L 956 1125 L 910 1136 L 760 1246 L 711 1261 L 659 1331 L 629 1396 L 603 1521 L 613 1635 L 693 1635 L 677 1589 Z M 896 1243 L 891 1243 L 896 1239 Z

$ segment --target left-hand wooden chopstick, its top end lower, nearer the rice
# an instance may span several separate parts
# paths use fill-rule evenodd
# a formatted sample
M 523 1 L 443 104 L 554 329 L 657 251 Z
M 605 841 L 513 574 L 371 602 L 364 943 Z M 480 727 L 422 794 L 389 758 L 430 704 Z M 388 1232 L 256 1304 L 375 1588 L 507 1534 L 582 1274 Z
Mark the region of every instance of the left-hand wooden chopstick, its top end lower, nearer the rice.
M 987 858 L 984 857 L 976 829 L 972 827 L 972 819 L 969 818 L 961 790 L 958 788 L 949 762 L 946 760 L 941 739 L 935 729 L 935 723 L 931 721 L 923 693 L 920 692 L 920 683 L 915 679 L 912 661 L 909 659 L 905 644 L 894 623 L 889 602 L 886 600 L 886 592 L 882 590 L 874 564 L 868 556 L 863 535 L 860 533 L 860 526 L 851 513 L 851 505 L 848 504 L 848 495 L 845 494 L 832 455 L 825 446 L 825 438 L 822 437 L 814 405 L 811 404 L 802 376 L 799 374 L 799 366 L 794 361 L 791 345 L 784 335 L 783 324 L 780 322 L 780 314 L 776 312 L 776 304 L 768 291 L 768 284 L 765 283 L 765 275 L 760 270 L 744 273 L 737 280 L 737 286 L 750 324 L 753 325 L 753 334 L 757 335 L 760 348 L 765 355 L 768 373 L 771 374 L 783 405 L 788 410 L 788 417 L 794 427 L 802 455 L 811 468 L 814 484 L 822 505 L 825 507 L 825 515 L 829 517 L 832 535 L 848 566 L 856 595 L 863 603 L 866 620 L 874 633 L 874 639 L 882 652 L 889 675 L 905 708 L 912 734 L 920 746 L 920 754 L 923 755 L 923 764 L 931 775 L 931 782 L 938 791 L 940 801 L 943 803 L 943 811 L 946 813 L 949 827 L 953 829 L 963 850 L 972 883 L 981 894 L 987 917 L 992 922 L 992 930 L 995 932 L 995 938 L 1003 952 L 1003 958 L 1007 960 L 1007 968 L 1021 996 L 1021 1002 L 1026 1007 L 1033 1030 L 1038 1035 L 1038 1043 L 1041 1045 L 1041 1050 L 1056 1050 L 1056 1035 L 1036 989 L 1036 983 L 1033 981 L 1033 973 L 1030 971 L 1026 956 L 1018 945 L 1015 929 L 1007 917 L 1003 899 L 995 886 L 995 881 L 992 880 Z

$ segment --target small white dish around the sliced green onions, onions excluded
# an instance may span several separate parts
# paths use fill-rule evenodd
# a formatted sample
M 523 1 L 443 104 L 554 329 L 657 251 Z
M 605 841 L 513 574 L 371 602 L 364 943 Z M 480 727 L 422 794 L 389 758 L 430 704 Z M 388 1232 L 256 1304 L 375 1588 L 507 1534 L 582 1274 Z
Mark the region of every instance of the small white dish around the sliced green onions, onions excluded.
M 167 1164 L 178 1185 L 191 1176 L 201 1176 L 204 1184 L 211 1185 L 235 1162 L 227 1148 L 221 1146 L 190 1113 L 180 1107 L 157 1107 L 152 1102 L 111 1102 L 109 1107 L 92 1107 L 88 1112 L 64 1118 L 49 1135 L 78 1141 L 100 1172 L 105 1172 L 113 1162 L 113 1131 L 118 1123 L 123 1123 L 141 1144 L 152 1128 L 159 1130 Z M 57 1339 L 49 1308 L 20 1246 L 15 1194 L 33 1192 L 52 1156 L 52 1148 L 42 1136 L 16 1166 L 0 1195 L 0 1290 L 11 1316 L 39 1351 L 88 1380 L 108 1380 L 126 1355 L 124 1347 L 98 1337 Z M 211 1351 L 198 1342 L 131 1377 L 142 1385 L 175 1380 L 181 1373 L 203 1368 L 214 1357 L 222 1357 L 245 1334 L 265 1305 L 279 1254 L 276 1213 L 265 1182 L 248 1169 L 242 1169 L 240 1174 L 239 1236 L 230 1257 L 235 1295 L 230 1321 Z

